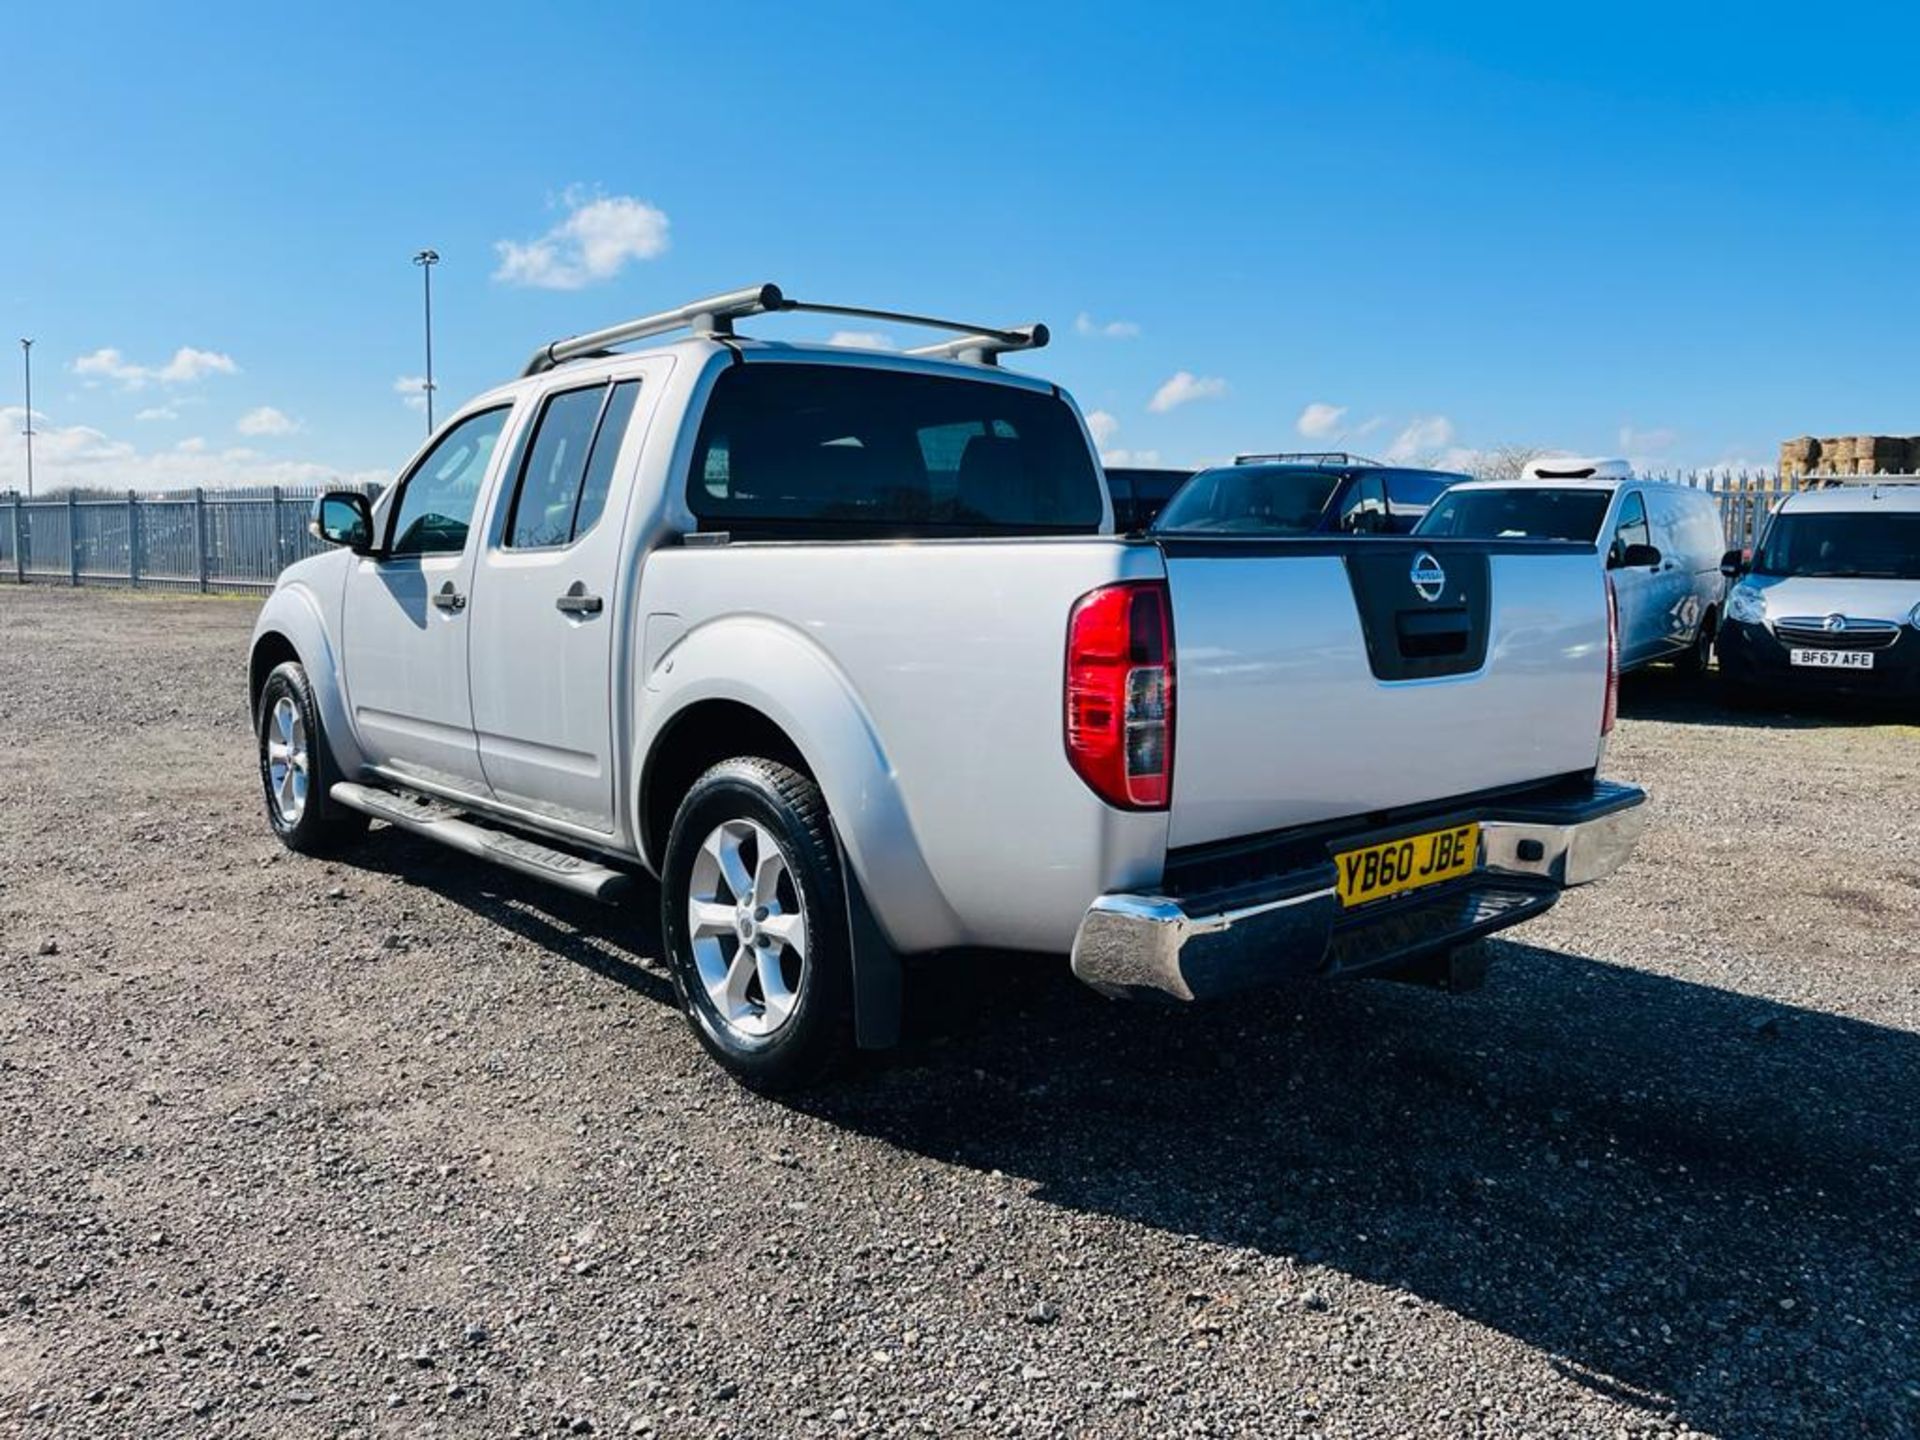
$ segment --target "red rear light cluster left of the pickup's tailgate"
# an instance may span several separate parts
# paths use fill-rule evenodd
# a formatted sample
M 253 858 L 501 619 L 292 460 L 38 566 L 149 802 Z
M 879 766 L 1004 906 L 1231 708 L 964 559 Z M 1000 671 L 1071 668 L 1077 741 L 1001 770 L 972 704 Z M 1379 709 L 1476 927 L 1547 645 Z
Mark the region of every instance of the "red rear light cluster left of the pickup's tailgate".
M 1173 607 L 1162 580 L 1102 586 L 1068 620 L 1068 760 L 1108 804 L 1173 793 Z

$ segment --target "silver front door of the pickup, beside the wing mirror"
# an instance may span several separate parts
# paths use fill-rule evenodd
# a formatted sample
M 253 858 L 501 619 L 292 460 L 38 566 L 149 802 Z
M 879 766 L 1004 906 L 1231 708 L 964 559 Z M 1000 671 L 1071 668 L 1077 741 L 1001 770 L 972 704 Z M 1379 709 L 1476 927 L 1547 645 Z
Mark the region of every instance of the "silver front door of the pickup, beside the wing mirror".
M 467 693 L 474 515 L 511 405 L 468 415 L 401 478 L 382 549 L 353 563 L 340 657 L 367 758 L 397 778 L 486 793 Z

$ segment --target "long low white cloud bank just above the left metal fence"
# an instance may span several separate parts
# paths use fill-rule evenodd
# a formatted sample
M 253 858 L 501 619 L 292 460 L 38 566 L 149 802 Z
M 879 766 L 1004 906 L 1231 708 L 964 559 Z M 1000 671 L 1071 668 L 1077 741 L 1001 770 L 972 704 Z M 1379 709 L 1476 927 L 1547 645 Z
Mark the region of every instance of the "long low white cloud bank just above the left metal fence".
M 25 411 L 0 409 L 0 476 L 25 470 Z M 213 449 L 192 436 L 165 449 L 140 449 L 86 424 L 46 424 L 35 419 L 35 490 L 67 486 L 98 490 L 192 490 L 194 486 L 357 486 L 390 480 L 382 470 L 340 470 L 298 459 L 269 459 L 259 451 Z

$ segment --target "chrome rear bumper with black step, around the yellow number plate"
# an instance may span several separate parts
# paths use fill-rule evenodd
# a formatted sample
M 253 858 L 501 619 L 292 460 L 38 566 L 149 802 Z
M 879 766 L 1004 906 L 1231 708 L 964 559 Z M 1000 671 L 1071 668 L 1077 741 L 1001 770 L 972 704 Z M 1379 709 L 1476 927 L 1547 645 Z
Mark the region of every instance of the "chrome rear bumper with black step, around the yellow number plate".
M 1580 795 L 1432 816 L 1421 824 L 1480 824 L 1476 870 L 1352 912 L 1331 854 L 1231 893 L 1102 895 L 1073 939 L 1073 973 L 1102 995 L 1204 1000 L 1292 975 L 1392 968 L 1515 925 L 1569 885 L 1613 874 L 1645 829 L 1645 799 L 1597 781 Z

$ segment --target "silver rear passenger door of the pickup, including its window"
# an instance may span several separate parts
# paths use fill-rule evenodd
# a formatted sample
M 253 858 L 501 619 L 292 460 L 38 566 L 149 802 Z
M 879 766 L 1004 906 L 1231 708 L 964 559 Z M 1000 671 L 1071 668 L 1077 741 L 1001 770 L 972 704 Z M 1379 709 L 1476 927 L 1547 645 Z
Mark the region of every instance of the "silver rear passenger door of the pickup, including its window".
M 541 397 L 474 572 L 474 739 L 493 799 L 595 835 L 614 831 L 620 561 L 657 390 L 641 372 Z

